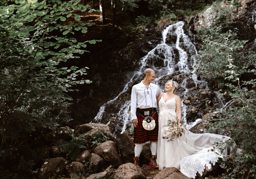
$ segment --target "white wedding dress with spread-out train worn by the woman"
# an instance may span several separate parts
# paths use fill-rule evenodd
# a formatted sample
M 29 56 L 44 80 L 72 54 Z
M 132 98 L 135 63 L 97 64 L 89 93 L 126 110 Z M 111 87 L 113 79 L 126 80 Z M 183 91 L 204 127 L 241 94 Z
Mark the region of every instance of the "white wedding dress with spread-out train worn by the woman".
M 158 150 L 157 150 L 157 163 L 159 170 L 163 170 L 167 167 L 175 167 L 180 169 L 180 172 L 185 174 L 189 178 L 195 178 L 196 173 L 202 175 L 202 172 L 207 166 L 211 169 L 211 164 L 215 165 L 220 155 L 227 155 L 228 148 L 222 152 L 215 149 L 212 152 L 212 144 L 214 142 L 223 142 L 223 140 L 229 139 L 229 137 L 212 134 L 212 133 L 191 133 L 186 132 L 180 138 L 176 138 L 173 141 L 167 141 L 162 138 L 163 130 L 168 125 L 168 119 L 177 123 L 176 115 L 176 101 L 175 97 L 164 102 L 163 97 L 159 101 L 159 132 L 158 132 Z M 186 142 L 187 141 L 187 142 Z M 216 148 L 216 147 L 215 147 Z M 232 150 L 232 148 L 229 148 Z M 211 164 L 210 164 L 211 162 Z

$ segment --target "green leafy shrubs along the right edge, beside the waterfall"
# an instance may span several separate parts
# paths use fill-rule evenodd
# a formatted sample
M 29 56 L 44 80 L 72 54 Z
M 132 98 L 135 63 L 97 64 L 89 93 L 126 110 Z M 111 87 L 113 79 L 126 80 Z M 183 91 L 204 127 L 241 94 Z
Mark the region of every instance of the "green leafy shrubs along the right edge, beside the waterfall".
M 221 162 L 221 167 L 226 169 L 223 179 L 256 178 L 255 52 L 242 51 L 245 41 L 237 40 L 235 30 L 221 33 L 221 28 L 217 27 L 205 31 L 198 72 L 207 80 L 219 82 L 218 86 L 225 90 L 219 90 L 218 97 L 228 96 L 233 102 L 227 110 L 217 109 L 218 118 L 205 124 L 208 129 L 205 132 L 228 131 L 237 144 L 234 153 Z M 245 77 L 246 80 L 242 81 L 241 78 Z M 240 153 L 235 153 L 237 148 L 241 149 Z

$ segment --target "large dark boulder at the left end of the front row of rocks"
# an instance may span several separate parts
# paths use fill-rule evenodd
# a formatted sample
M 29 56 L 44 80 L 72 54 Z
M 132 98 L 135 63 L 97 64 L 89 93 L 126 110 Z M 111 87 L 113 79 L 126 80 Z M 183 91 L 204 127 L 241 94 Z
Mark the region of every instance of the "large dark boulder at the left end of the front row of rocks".
M 65 174 L 68 162 L 62 157 L 46 159 L 39 170 L 38 179 L 52 179 Z

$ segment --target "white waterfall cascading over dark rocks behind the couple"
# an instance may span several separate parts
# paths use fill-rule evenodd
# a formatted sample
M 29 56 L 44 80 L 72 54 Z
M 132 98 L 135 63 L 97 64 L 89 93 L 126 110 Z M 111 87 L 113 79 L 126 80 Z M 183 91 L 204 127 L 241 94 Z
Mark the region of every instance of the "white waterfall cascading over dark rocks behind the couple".
M 129 86 L 132 82 L 137 82 L 142 78 L 143 71 L 149 66 L 156 73 L 156 79 L 153 83 L 159 85 L 164 89 L 164 82 L 166 77 L 170 77 L 172 74 L 178 74 L 182 77 L 180 82 L 179 95 L 182 102 L 182 120 L 187 128 L 199 123 L 201 119 L 196 120 L 193 123 L 187 123 L 186 111 L 187 106 L 183 103 L 188 92 L 193 87 L 206 87 L 207 82 L 199 81 L 196 75 L 196 47 L 191 42 L 190 38 L 185 35 L 183 30 L 184 22 L 180 21 L 176 24 L 168 26 L 163 32 L 163 41 L 158 44 L 153 50 L 149 51 L 146 56 L 140 60 L 140 68 L 137 72 L 134 72 L 130 81 L 125 85 L 120 94 L 109 102 L 103 104 L 97 116 L 94 118 L 94 122 L 101 122 L 106 105 L 119 99 L 121 94 L 124 94 L 129 90 Z M 159 65 L 161 64 L 161 65 Z M 176 75 L 177 76 L 177 75 Z M 175 79 L 174 79 L 175 80 Z M 163 82 L 164 81 L 164 82 Z M 130 117 L 130 105 L 131 101 L 127 100 L 121 105 L 119 112 L 113 118 L 118 119 L 118 125 L 121 133 L 125 132 L 128 123 L 131 123 Z M 110 121 L 107 125 L 110 124 Z M 115 133 L 115 131 L 114 131 Z

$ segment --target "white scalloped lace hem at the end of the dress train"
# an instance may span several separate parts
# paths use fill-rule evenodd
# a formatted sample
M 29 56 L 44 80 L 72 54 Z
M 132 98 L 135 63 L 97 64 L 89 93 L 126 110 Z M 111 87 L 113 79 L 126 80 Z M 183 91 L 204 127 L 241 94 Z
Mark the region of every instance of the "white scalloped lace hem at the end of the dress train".
M 211 169 L 218 162 L 220 156 L 212 151 L 201 151 L 194 155 L 185 157 L 180 163 L 180 172 L 187 177 L 195 179 L 196 173 L 202 175 L 205 167 Z M 211 164 L 210 164 L 211 163 Z

